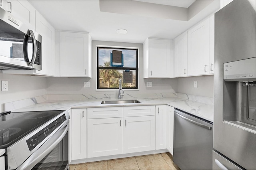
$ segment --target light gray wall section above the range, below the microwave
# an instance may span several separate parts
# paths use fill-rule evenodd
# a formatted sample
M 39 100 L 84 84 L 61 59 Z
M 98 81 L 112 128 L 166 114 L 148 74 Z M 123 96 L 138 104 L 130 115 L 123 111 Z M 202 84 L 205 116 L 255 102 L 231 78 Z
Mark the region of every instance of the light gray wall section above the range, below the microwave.
M 0 81 L 8 81 L 8 91 L 0 91 L 0 111 L 3 103 L 46 95 L 46 77 L 0 73 Z

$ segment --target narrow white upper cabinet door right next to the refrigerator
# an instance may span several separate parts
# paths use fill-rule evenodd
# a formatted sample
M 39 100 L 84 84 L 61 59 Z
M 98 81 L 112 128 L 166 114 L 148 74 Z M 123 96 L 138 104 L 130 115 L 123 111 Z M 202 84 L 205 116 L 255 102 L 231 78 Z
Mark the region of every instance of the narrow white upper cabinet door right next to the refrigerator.
M 214 73 L 214 14 L 209 17 L 209 24 L 210 24 L 210 56 L 209 56 L 209 73 L 213 74 Z

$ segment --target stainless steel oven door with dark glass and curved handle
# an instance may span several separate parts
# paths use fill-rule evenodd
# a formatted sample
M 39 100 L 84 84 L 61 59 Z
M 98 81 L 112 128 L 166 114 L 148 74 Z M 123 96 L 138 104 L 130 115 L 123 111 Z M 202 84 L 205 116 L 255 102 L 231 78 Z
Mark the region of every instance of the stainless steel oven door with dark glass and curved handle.
M 67 170 L 69 166 L 69 121 L 55 132 L 17 170 Z

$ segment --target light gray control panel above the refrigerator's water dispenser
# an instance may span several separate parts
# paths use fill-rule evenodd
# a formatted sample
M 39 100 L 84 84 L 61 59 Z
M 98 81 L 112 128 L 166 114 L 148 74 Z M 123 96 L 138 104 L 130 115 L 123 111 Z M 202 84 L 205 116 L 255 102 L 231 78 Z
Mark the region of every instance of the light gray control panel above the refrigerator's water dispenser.
M 225 81 L 256 79 L 256 57 L 223 64 Z

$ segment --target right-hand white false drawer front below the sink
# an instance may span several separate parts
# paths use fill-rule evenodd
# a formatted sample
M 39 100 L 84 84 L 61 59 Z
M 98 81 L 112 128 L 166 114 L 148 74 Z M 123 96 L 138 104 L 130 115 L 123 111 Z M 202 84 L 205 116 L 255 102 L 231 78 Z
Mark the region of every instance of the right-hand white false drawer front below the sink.
M 156 113 L 155 106 L 124 107 L 124 117 L 153 116 Z

